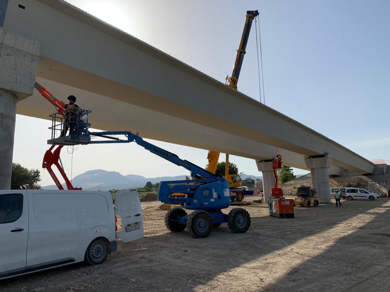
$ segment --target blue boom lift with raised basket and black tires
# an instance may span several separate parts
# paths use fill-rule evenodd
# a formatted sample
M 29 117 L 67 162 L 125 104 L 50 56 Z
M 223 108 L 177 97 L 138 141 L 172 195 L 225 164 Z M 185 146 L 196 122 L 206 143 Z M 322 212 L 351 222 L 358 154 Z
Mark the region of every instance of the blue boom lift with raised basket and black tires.
M 67 117 L 67 110 L 51 115 L 52 126 L 51 145 L 77 145 L 101 143 L 130 143 L 136 142 L 151 153 L 160 156 L 178 166 L 188 169 L 190 180 L 161 181 L 158 187 L 158 199 L 164 203 L 182 205 L 184 209 L 194 210 L 190 214 L 183 208 L 173 208 L 165 216 L 165 224 L 172 232 L 180 232 L 185 228 L 190 235 L 196 238 L 207 237 L 213 228 L 222 223 L 228 223 L 232 232 L 244 233 L 249 229 L 250 216 L 243 208 L 234 208 L 229 214 L 222 213 L 221 209 L 230 206 L 229 182 L 223 177 L 217 177 L 206 169 L 187 160 L 180 159 L 176 154 L 161 149 L 144 139 L 138 133 L 128 131 L 89 132 L 88 115 L 91 111 L 77 109 L 71 119 Z M 70 134 L 58 137 L 65 125 L 68 125 Z M 91 136 L 104 140 L 91 140 Z M 122 136 L 124 138 L 119 138 Z M 60 147 L 59 146 L 59 147 Z

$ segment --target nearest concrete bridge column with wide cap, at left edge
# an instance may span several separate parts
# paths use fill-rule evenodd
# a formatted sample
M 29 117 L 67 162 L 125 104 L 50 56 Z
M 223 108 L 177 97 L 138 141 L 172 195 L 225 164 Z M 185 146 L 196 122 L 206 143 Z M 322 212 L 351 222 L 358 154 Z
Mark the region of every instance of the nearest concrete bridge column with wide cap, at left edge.
M 34 91 L 40 51 L 38 41 L 0 27 L 0 190 L 11 187 L 16 103 Z

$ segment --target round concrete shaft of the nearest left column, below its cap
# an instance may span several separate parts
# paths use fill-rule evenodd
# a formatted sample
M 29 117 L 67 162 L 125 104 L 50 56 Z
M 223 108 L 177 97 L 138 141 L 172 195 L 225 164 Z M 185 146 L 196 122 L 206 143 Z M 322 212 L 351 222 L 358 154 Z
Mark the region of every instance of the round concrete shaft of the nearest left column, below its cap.
M 0 89 L 0 190 L 11 186 L 16 101 L 16 95 Z

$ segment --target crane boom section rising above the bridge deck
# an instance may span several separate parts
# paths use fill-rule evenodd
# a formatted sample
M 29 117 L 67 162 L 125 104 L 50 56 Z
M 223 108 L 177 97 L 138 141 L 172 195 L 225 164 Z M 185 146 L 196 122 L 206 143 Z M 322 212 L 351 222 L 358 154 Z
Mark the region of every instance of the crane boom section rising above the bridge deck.
M 237 50 L 236 62 L 234 63 L 232 77 L 227 77 L 226 80 L 229 82 L 229 86 L 237 89 L 238 78 L 240 77 L 240 71 L 242 62 L 244 61 L 245 49 L 248 44 L 248 38 L 250 28 L 252 26 L 253 19 L 258 15 L 257 10 L 246 12 L 246 21 L 244 25 L 244 31 L 242 32 L 240 47 Z

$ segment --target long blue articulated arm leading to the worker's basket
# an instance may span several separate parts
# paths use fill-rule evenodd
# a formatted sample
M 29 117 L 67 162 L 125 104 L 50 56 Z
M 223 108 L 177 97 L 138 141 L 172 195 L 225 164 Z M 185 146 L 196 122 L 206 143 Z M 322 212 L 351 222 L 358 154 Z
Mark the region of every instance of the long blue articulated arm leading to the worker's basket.
M 178 166 L 182 166 L 185 169 L 188 169 L 191 172 L 191 176 L 194 178 L 216 178 L 216 175 L 205 170 L 204 168 L 193 164 L 187 160 L 180 159 L 176 154 L 173 154 L 167 150 L 164 150 L 162 148 L 157 147 L 156 145 L 153 145 L 152 143 L 146 142 L 144 139 L 142 139 L 140 136 L 133 134 L 132 132 L 122 132 L 122 131 L 113 131 L 113 132 L 90 132 L 89 135 L 93 136 L 100 136 L 100 137 L 106 137 L 111 138 L 112 141 L 90 141 L 90 144 L 96 144 L 96 143 L 129 143 L 129 142 L 136 142 L 138 145 L 142 146 L 146 150 L 150 151 L 151 153 L 162 157 Z M 127 137 L 127 140 L 121 140 L 119 138 L 113 138 L 108 137 L 108 135 L 125 135 Z

